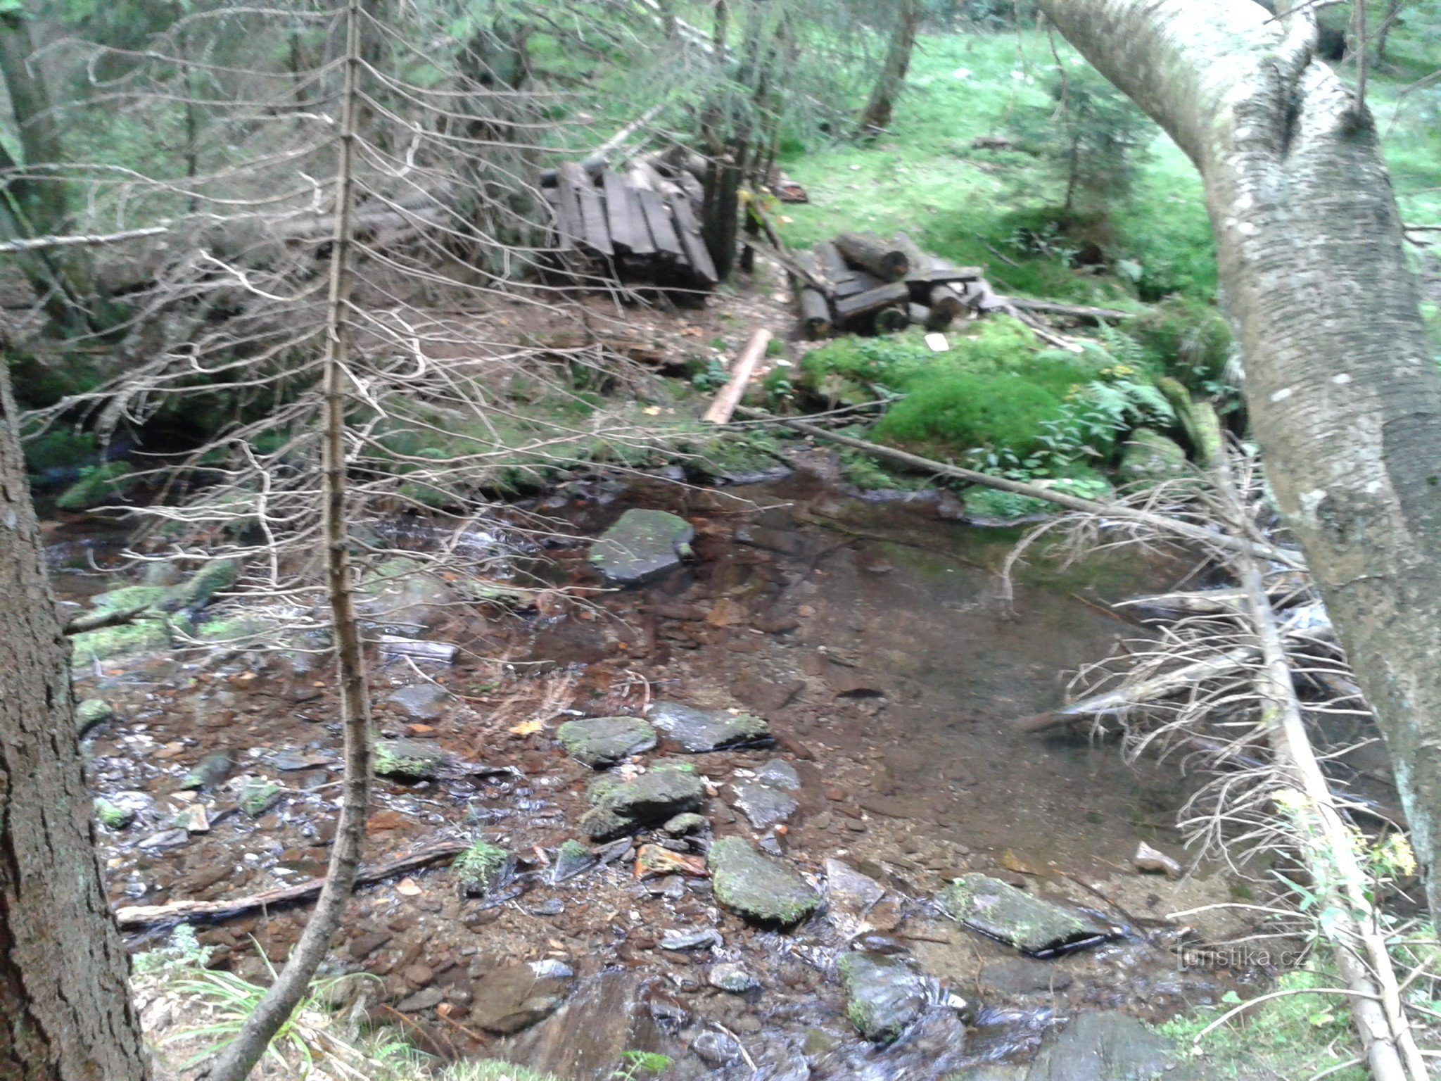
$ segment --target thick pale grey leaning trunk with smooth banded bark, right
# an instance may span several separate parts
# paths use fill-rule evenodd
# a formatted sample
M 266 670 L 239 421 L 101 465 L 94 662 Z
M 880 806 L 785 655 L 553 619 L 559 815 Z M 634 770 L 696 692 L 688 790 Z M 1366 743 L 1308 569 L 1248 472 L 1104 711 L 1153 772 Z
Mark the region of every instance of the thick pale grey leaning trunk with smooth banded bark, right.
M 1206 184 L 1281 513 L 1376 713 L 1441 924 L 1441 375 L 1375 127 L 1306 6 L 1040 0 Z

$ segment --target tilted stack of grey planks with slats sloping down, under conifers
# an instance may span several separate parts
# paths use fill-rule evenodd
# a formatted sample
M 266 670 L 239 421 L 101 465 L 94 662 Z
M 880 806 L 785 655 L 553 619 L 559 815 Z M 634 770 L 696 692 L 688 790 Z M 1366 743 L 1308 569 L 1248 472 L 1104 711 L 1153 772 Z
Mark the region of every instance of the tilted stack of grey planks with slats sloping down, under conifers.
M 568 161 L 548 180 L 552 244 L 566 271 L 699 290 L 719 280 L 700 235 L 700 182 L 686 167 L 648 156 L 624 173 Z

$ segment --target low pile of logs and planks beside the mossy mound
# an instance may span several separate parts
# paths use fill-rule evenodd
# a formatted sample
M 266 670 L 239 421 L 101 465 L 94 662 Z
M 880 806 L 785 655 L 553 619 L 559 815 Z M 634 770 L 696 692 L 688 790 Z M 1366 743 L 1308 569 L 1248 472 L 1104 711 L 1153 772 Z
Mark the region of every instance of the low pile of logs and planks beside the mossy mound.
M 980 267 L 928 255 L 904 232 L 891 239 L 843 232 L 798 261 L 807 274 L 797 301 L 813 339 L 836 330 L 885 334 L 911 324 L 944 330 L 989 293 Z

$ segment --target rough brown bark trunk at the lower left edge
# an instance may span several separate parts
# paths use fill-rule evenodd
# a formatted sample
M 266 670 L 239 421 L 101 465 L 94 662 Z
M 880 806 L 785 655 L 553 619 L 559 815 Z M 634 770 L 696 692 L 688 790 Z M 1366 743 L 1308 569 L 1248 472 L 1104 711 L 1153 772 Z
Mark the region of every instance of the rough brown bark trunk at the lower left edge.
M 0 363 L 0 1077 L 144 1081 L 19 427 Z

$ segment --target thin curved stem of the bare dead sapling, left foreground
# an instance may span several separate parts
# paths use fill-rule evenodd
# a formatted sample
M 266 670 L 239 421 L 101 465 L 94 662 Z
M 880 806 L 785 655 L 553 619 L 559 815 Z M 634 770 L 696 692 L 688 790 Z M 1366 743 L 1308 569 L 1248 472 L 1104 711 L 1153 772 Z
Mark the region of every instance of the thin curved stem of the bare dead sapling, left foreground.
M 340 676 L 340 713 L 344 725 L 344 781 L 340 823 L 326 885 L 316 911 L 275 983 L 246 1018 L 239 1035 L 210 1069 L 210 1081 L 244 1081 L 265 1054 L 271 1038 L 285 1023 L 340 925 L 354 888 L 365 839 L 370 788 L 370 703 L 365 685 L 365 657 L 350 592 L 350 559 L 346 536 L 346 381 L 350 360 L 350 215 L 354 203 L 353 160 L 356 101 L 360 69 L 360 7 L 346 9 L 344 92 L 336 166 L 336 232 L 330 251 L 330 295 L 324 357 L 323 422 L 323 535 L 326 539 L 326 591 L 330 600 L 336 666 Z

